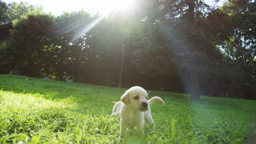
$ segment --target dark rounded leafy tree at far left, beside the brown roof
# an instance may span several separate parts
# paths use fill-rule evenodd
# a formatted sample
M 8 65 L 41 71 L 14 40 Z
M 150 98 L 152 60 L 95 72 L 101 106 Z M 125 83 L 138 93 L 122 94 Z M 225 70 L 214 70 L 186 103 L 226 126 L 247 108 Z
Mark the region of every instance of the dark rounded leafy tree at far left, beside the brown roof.
M 14 24 L 11 38 L 7 46 L 10 61 L 14 61 L 12 69 L 18 69 L 20 74 L 39 77 L 45 68 L 52 65 L 54 58 L 53 17 L 49 15 L 28 15 Z M 25 37 L 26 35 L 26 37 Z

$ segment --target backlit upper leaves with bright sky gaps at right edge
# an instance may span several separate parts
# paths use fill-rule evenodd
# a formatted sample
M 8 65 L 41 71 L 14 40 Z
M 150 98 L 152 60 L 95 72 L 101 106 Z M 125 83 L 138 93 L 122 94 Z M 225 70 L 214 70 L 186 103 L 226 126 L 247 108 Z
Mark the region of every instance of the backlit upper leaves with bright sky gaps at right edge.
M 226 27 L 232 27 L 228 39 L 220 44 L 224 55 L 234 61 L 255 65 L 255 1 L 231 1 L 222 9 L 229 15 L 230 25 Z

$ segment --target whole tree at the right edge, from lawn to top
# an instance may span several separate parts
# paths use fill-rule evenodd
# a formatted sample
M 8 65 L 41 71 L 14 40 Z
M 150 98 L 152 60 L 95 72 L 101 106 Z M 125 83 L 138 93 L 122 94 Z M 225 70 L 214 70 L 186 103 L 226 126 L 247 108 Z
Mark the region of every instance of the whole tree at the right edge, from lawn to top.
M 223 28 L 225 39 L 218 43 L 228 68 L 225 81 L 227 97 L 255 99 L 255 2 L 229 1 L 221 10 L 228 17 Z

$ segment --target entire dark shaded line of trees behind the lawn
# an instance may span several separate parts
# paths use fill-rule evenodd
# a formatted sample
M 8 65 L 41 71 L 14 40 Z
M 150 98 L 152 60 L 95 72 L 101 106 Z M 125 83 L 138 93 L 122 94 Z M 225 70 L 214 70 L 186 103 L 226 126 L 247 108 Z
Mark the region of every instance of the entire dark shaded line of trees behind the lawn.
M 152 0 L 107 17 L 55 17 L 40 7 L 22 15 L 1 44 L 1 73 L 118 86 L 123 57 L 122 87 L 255 99 L 254 1 Z

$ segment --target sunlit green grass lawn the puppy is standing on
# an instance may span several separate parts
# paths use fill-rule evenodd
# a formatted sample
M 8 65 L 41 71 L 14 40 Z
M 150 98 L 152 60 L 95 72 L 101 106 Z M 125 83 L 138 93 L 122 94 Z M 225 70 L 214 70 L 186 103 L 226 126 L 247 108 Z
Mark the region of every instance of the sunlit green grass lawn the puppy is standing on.
M 149 92 L 156 130 L 119 137 L 125 88 L 0 75 L 0 143 L 256 143 L 256 101 Z

